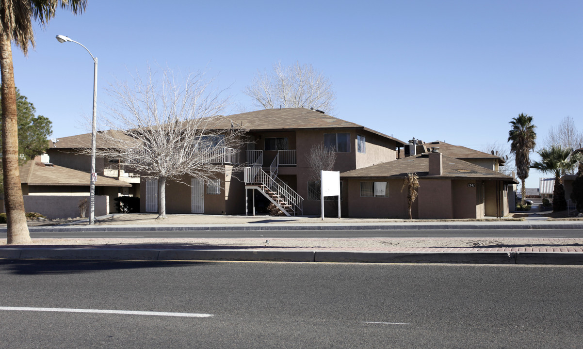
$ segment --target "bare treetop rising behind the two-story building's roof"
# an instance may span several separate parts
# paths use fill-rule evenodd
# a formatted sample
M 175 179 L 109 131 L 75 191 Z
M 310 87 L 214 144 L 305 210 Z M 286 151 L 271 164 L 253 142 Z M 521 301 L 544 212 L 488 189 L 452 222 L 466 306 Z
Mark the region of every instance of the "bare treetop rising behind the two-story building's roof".
M 314 108 L 328 115 L 336 99 L 330 79 L 311 64 L 299 62 L 287 67 L 279 62 L 271 72 L 258 71 L 244 93 L 261 108 Z

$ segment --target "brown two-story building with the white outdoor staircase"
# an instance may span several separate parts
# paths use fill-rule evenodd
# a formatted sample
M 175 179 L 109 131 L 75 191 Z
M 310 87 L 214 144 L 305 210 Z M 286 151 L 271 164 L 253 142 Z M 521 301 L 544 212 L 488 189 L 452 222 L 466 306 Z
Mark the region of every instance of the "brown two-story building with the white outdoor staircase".
M 373 129 L 305 108 L 266 109 L 228 119 L 247 130 L 246 149 L 224 161 L 224 173 L 215 182 L 184 178 L 167 184 L 167 213 L 252 214 L 274 203 L 288 214 L 319 214 L 318 185 L 308 175 L 313 146 L 323 143 L 335 151 L 333 171 L 340 172 L 393 161 L 403 146 Z M 142 211 L 157 211 L 156 195 L 157 181 L 142 179 Z

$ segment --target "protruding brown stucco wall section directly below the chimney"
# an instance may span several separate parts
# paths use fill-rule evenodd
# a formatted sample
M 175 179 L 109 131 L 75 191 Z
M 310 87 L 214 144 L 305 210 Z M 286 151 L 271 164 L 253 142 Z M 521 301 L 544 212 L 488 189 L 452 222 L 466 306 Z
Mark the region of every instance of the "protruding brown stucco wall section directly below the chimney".
M 449 179 L 419 179 L 419 218 L 454 218 Z

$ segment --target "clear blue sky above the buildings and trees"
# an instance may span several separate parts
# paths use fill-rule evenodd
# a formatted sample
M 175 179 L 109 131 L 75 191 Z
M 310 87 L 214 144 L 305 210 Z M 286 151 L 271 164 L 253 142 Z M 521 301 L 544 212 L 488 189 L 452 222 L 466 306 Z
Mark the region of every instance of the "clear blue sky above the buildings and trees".
M 407 141 L 507 145 L 533 115 L 539 145 L 570 116 L 583 130 L 581 1 L 108 1 L 57 13 L 36 49 L 13 50 L 16 86 L 56 138 L 87 132 L 93 61 L 98 117 L 108 84 L 147 64 L 207 69 L 234 102 L 257 70 L 312 64 L 336 91 L 336 117 Z M 236 110 L 233 110 L 236 112 Z M 536 158 L 536 157 L 535 157 Z M 531 170 L 529 188 L 538 187 Z M 547 177 L 542 175 L 542 177 Z

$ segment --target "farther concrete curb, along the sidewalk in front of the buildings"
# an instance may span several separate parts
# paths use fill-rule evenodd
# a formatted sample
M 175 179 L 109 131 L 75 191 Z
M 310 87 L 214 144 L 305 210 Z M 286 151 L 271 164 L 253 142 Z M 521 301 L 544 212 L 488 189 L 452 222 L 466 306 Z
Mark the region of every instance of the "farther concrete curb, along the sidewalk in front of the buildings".
M 488 223 L 482 224 L 234 224 L 234 225 L 101 225 L 29 227 L 31 232 L 116 232 L 116 231 L 291 231 L 291 230 L 507 230 L 583 229 L 583 223 Z M 6 232 L 6 228 L 0 232 Z

